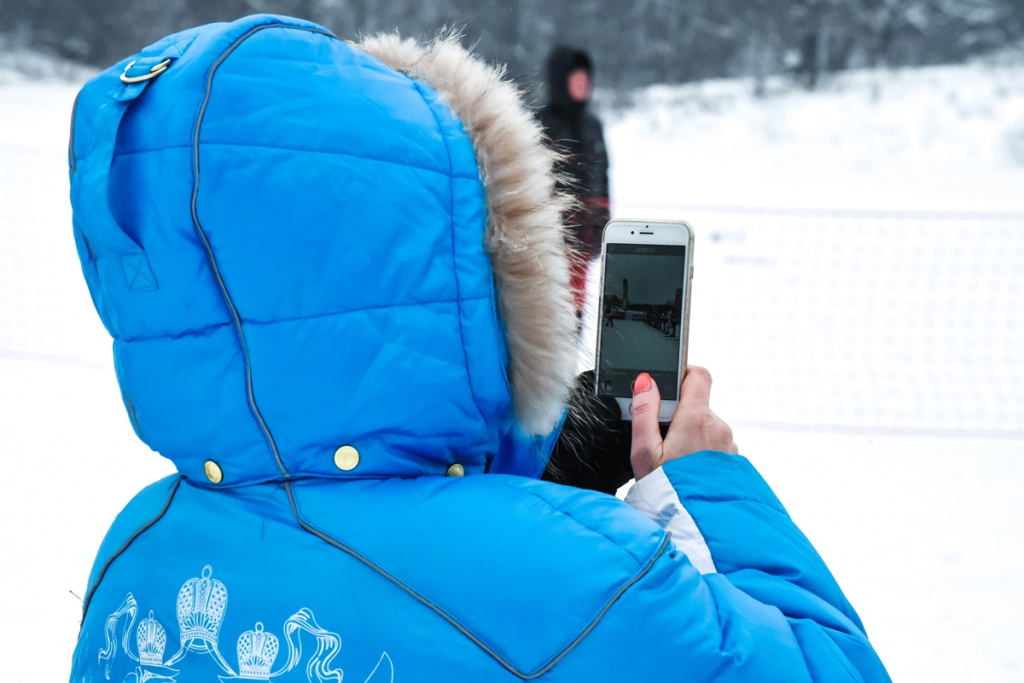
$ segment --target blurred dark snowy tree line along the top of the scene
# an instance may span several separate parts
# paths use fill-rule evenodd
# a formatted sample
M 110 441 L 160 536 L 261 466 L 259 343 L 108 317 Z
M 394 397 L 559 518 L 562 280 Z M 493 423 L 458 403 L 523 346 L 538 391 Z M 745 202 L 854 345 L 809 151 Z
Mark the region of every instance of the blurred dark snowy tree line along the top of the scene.
M 456 27 L 530 86 L 557 43 L 589 50 L 598 84 L 788 73 L 807 87 L 858 67 L 961 61 L 1024 40 L 1022 0 L 0 0 L 6 44 L 105 66 L 199 24 L 302 16 L 342 38 Z

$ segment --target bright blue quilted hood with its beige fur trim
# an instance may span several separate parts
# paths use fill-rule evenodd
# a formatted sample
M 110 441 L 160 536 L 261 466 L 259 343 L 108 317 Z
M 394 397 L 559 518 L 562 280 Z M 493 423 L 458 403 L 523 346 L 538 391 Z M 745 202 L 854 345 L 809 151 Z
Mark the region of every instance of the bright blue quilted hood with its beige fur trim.
M 543 469 L 577 367 L 566 200 L 457 38 L 177 34 L 83 88 L 71 158 L 125 405 L 189 478 Z

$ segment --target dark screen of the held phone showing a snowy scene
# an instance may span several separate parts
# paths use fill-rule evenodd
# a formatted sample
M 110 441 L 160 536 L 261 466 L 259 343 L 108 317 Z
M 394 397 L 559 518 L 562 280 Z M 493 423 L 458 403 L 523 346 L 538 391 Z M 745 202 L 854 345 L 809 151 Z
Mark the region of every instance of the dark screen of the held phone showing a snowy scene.
M 648 373 L 663 398 L 679 399 L 686 280 L 685 246 L 605 245 L 598 394 L 630 396 Z

